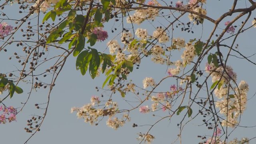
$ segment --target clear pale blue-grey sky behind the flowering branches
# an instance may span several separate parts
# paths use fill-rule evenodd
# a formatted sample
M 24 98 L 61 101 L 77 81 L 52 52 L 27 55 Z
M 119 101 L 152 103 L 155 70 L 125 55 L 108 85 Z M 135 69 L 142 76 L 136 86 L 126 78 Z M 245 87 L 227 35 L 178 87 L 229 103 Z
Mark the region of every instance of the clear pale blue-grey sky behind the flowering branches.
M 2 3 L 2 2 L 1 2 Z M 170 3 L 169 1 L 167 3 Z M 175 3 L 175 2 L 174 2 Z M 184 2 L 186 3 L 186 2 Z M 207 15 L 216 19 L 224 12 L 227 12 L 231 6 L 233 1 L 231 0 L 208 0 L 206 4 Z M 247 0 L 238 0 L 237 8 L 245 8 L 250 6 Z M 8 8 L 8 9 L 7 9 Z M 5 8 L 4 12 L 10 16 L 10 18 L 17 18 L 17 15 L 12 14 L 12 10 L 15 9 L 18 12 L 18 8 L 15 4 L 12 7 Z M 16 14 L 16 13 L 15 13 Z M 252 17 L 256 17 L 256 13 L 252 13 Z M 219 33 L 222 31 L 221 28 L 224 28 L 224 22 L 228 20 L 232 20 L 234 16 L 227 17 L 222 24 L 220 24 L 219 29 L 217 30 Z M 245 17 L 243 18 L 243 20 Z M 173 18 L 170 18 L 173 20 Z M 188 22 L 187 15 L 184 16 L 181 20 L 185 20 L 184 22 Z M 246 27 L 251 25 L 252 18 L 246 25 Z M 160 26 L 161 21 L 155 21 L 154 26 Z M 241 22 L 241 21 L 240 21 Z M 162 22 L 161 22 L 162 23 Z M 166 24 L 166 23 L 164 23 Z M 239 27 L 241 23 L 236 23 Z M 111 34 L 111 28 L 113 23 L 106 24 L 105 29 L 109 30 L 109 38 L 114 36 Z M 117 28 L 119 31 L 122 30 L 122 25 L 120 27 L 120 23 L 116 23 L 114 28 Z M 208 38 L 212 30 L 212 24 L 207 20 L 204 21 L 203 34 L 201 40 L 204 41 Z M 149 33 L 152 34 L 152 26 L 150 25 L 141 25 L 135 26 L 135 28 L 147 28 Z M 118 31 L 117 30 L 117 31 Z M 238 28 L 236 28 L 238 30 Z M 185 38 L 186 42 L 190 38 L 200 38 L 202 32 L 202 26 L 195 26 L 194 34 L 188 34 L 187 32 L 180 32 L 179 29 L 174 30 L 174 38 L 180 37 Z M 250 56 L 256 53 L 256 43 L 255 43 L 255 34 L 256 28 L 252 28 L 249 31 L 246 31 L 243 34 L 240 34 L 236 43 L 239 44 L 238 50 L 242 52 L 245 56 Z M 226 34 L 224 37 L 230 36 Z M 16 37 L 16 39 L 18 39 Z M 215 38 L 216 39 L 216 38 Z M 108 41 L 107 40 L 107 41 Z M 0 42 L 1 43 L 1 42 Z M 226 41 L 226 44 L 230 44 L 230 41 Z M 18 47 L 21 48 L 21 47 Z M 104 50 L 106 48 L 106 42 L 97 44 L 94 46 L 99 51 Z M 20 66 L 16 63 L 16 60 L 13 58 L 12 60 L 8 60 L 8 57 L 11 56 L 14 51 L 17 51 L 17 47 L 8 47 L 8 52 L 0 53 L 0 72 L 10 72 L 12 70 L 16 70 L 15 66 Z M 20 51 L 20 50 L 18 50 Z M 56 50 L 49 51 L 55 54 Z M 108 52 L 108 50 L 106 50 Z M 234 53 L 233 53 L 234 54 Z M 174 58 L 179 58 L 179 55 L 173 55 Z M 252 61 L 256 62 L 255 56 L 250 58 Z M 56 86 L 52 91 L 50 96 L 50 106 L 48 107 L 48 114 L 44 123 L 41 126 L 41 131 L 38 132 L 32 139 L 28 142 L 28 144 L 136 144 L 139 143 L 136 138 L 138 132 L 146 132 L 149 126 L 132 128 L 132 124 L 136 123 L 138 125 L 142 124 L 153 124 L 156 120 L 159 119 L 158 116 L 152 117 L 152 114 L 140 114 L 138 110 L 131 112 L 131 122 L 126 122 L 126 124 L 119 128 L 118 130 L 114 130 L 106 126 L 106 118 L 104 118 L 98 126 L 91 126 L 88 123 L 84 123 L 83 119 L 77 119 L 76 114 L 70 114 L 70 108 L 74 106 L 83 106 L 90 102 L 90 97 L 93 95 L 100 96 L 102 93 L 105 95 L 105 100 L 108 99 L 107 92 L 104 90 L 96 91 L 95 87 L 101 87 L 102 83 L 105 80 L 105 76 L 102 75 L 100 77 L 92 80 L 88 74 L 82 76 L 80 71 L 77 71 L 75 68 L 75 60 L 73 56 L 70 56 L 62 70 L 60 76 L 56 81 Z M 255 72 L 256 66 L 248 63 L 244 59 L 238 59 L 231 57 L 228 65 L 232 66 L 234 71 L 238 74 L 238 82 L 240 80 L 246 80 L 250 86 L 250 91 L 248 93 L 248 105 L 247 110 L 242 115 L 242 126 L 254 126 L 255 122 L 255 102 L 256 98 L 253 97 L 255 90 Z M 166 76 L 166 65 L 156 65 L 150 61 L 150 58 L 144 59 L 144 61 L 140 64 L 140 68 L 136 70 L 134 68 L 134 72 L 130 74 L 128 79 L 133 80 L 135 84 L 138 84 L 142 87 L 142 80 L 145 77 L 153 77 L 156 81 L 161 80 L 164 76 Z M 168 82 L 164 82 L 159 90 L 166 90 L 169 88 L 171 84 L 175 84 L 175 80 L 170 79 Z M 20 102 L 24 102 L 28 96 L 27 92 L 30 85 L 21 85 L 24 89 L 23 94 L 15 94 L 12 99 L 5 101 L 6 105 L 19 107 L 21 106 Z M 34 104 L 44 103 L 47 100 L 48 89 L 45 90 L 40 88 L 37 92 L 33 91 L 31 98 L 28 101 L 26 107 L 17 115 L 17 122 L 0 124 L 0 143 L 1 144 L 23 144 L 26 139 L 30 136 L 30 133 L 26 133 L 24 127 L 27 127 L 27 120 L 32 117 L 33 114 L 38 115 L 42 114 L 44 110 L 36 109 Z M 4 95 L 0 96 L 3 98 Z M 126 97 L 128 97 L 127 95 Z M 131 97 L 133 97 L 131 95 Z M 116 101 L 122 101 L 121 96 L 118 94 L 114 95 Z M 122 105 L 123 104 L 123 105 Z M 128 106 L 126 103 L 121 102 L 120 107 L 125 108 Z M 195 110 L 197 111 L 197 110 Z M 157 112 L 159 115 L 164 115 L 164 112 Z M 179 128 L 177 124 L 182 116 L 176 116 L 172 118 L 171 122 L 169 120 L 163 120 L 158 123 L 150 134 L 154 135 L 156 139 L 154 140 L 154 144 L 168 144 L 173 142 L 177 138 L 177 134 L 179 133 Z M 197 135 L 208 134 L 207 128 L 205 126 L 198 126 L 203 124 L 202 117 L 198 117 L 198 120 L 194 120 L 191 122 L 183 131 L 182 139 L 184 144 L 197 144 L 200 142 L 200 138 L 197 138 Z M 238 139 L 242 137 L 252 138 L 256 136 L 256 128 L 237 128 L 236 132 L 234 132 L 233 136 L 230 138 L 237 137 Z M 231 139 L 229 139 L 231 140 Z M 178 143 L 178 142 L 176 142 Z M 252 140 L 251 144 L 255 144 L 256 140 Z

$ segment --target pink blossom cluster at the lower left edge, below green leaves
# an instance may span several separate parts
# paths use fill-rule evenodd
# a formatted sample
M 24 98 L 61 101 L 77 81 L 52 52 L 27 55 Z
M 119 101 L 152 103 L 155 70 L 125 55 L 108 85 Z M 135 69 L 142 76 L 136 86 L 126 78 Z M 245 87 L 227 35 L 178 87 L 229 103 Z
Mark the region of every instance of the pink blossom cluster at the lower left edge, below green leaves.
M 6 120 L 8 120 L 9 122 L 16 120 L 17 110 L 13 108 L 13 106 L 0 106 L 0 112 L 2 112 L 2 114 L 0 115 L 0 124 L 5 124 Z

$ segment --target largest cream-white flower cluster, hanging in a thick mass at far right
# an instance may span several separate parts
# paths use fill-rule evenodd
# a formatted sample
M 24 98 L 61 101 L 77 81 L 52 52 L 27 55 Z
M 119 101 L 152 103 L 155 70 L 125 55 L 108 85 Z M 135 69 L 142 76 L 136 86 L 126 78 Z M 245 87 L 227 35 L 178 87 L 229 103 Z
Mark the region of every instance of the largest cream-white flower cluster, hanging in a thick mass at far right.
M 226 116 L 226 120 L 222 121 L 222 126 L 234 127 L 238 124 L 237 119 L 246 109 L 247 103 L 247 92 L 249 90 L 248 84 L 242 80 L 238 85 L 238 88 L 234 88 L 234 94 L 229 94 L 228 89 L 231 91 L 231 88 L 228 88 L 230 84 L 229 79 L 232 78 L 236 82 L 236 73 L 233 72 L 233 69 L 230 66 L 226 66 L 226 70 L 221 78 L 221 75 L 224 71 L 222 66 L 215 68 L 211 63 L 206 65 L 206 72 L 212 72 L 212 82 L 220 81 L 219 84 L 222 85 L 214 90 L 214 94 L 221 100 L 215 103 L 216 108 L 220 109 L 220 114 Z M 224 83 L 224 84 L 223 84 Z M 232 86 L 232 85 L 231 85 Z

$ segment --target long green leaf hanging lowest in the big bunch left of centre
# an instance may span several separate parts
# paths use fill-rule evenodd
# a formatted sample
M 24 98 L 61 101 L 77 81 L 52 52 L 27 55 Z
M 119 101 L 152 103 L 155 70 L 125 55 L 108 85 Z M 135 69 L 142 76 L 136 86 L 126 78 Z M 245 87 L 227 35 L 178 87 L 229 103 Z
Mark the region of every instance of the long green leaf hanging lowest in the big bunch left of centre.
M 100 56 L 96 49 L 92 48 L 91 50 L 92 50 L 92 59 L 90 60 L 90 64 L 89 64 L 89 72 L 92 79 L 94 79 L 96 77 L 97 70 L 100 66 Z

